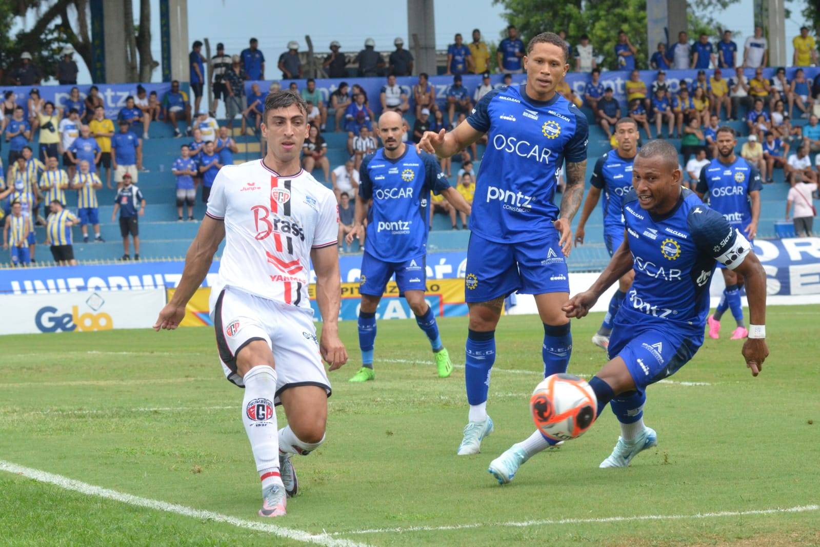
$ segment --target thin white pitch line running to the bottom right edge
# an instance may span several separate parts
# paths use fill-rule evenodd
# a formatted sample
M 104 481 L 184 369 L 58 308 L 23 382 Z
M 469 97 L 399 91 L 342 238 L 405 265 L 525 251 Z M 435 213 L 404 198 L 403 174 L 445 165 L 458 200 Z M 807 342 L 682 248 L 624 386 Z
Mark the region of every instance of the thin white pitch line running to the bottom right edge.
M 606 522 L 636 522 L 636 521 L 673 521 L 686 518 L 715 518 L 715 517 L 745 517 L 749 515 L 771 515 L 776 513 L 808 513 L 820 510 L 820 505 L 798 505 L 790 508 L 749 509 L 748 511 L 718 511 L 716 513 L 695 513 L 692 515 L 634 515 L 632 517 L 601 517 L 601 518 L 556 518 L 520 522 L 474 522 L 471 524 L 453 524 L 449 526 L 408 526 L 406 528 L 371 528 L 369 530 L 351 530 L 333 532 L 331 536 L 361 535 L 361 534 L 395 534 L 410 531 L 449 531 L 469 530 L 485 526 L 553 526 L 556 524 L 596 524 Z

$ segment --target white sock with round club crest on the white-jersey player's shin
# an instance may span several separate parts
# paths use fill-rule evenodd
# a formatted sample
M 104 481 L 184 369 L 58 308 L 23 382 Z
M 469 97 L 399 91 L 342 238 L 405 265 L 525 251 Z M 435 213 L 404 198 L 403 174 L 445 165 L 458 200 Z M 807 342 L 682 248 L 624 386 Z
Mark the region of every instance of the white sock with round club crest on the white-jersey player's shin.
M 245 396 L 242 400 L 242 422 L 251 442 L 253 459 L 262 480 L 262 490 L 278 483 L 279 435 L 276 431 L 276 370 L 268 365 L 253 367 L 243 378 Z

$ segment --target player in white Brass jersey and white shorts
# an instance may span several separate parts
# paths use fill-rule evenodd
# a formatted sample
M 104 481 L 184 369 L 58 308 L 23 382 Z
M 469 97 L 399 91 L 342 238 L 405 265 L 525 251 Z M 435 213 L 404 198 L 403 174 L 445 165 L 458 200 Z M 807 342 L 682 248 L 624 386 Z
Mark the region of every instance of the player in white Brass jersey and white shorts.
M 225 376 L 244 387 L 242 421 L 262 480 L 262 517 L 285 514 L 298 483 L 290 457 L 325 439 L 330 381 L 348 360 L 339 340 L 341 295 L 336 199 L 299 164 L 307 138 L 307 107 L 298 93 L 265 99 L 262 160 L 224 166 L 216 175 L 206 217 L 185 257 L 185 270 L 155 330 L 175 329 L 211 266 L 222 239 L 211 317 Z M 317 339 L 307 296 L 311 262 L 323 318 Z M 288 424 L 277 433 L 275 405 Z

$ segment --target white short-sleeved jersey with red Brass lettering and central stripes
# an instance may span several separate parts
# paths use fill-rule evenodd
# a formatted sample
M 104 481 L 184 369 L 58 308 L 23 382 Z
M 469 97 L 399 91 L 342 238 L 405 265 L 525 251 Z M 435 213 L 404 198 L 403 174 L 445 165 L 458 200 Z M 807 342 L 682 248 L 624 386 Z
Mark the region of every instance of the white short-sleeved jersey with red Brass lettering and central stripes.
M 281 176 L 262 160 L 227 165 L 216 174 L 206 214 L 225 221 L 221 287 L 311 310 L 311 250 L 335 245 L 339 232 L 330 189 L 303 170 Z

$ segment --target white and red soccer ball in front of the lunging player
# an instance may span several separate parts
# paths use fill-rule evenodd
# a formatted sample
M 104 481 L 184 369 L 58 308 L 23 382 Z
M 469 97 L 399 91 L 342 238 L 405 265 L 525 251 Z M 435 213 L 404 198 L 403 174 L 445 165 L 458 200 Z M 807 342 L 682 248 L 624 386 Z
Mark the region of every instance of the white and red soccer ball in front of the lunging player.
M 598 400 L 590 385 L 572 374 L 553 374 L 535 386 L 530 410 L 535 427 L 554 440 L 580 437 L 595 421 Z

